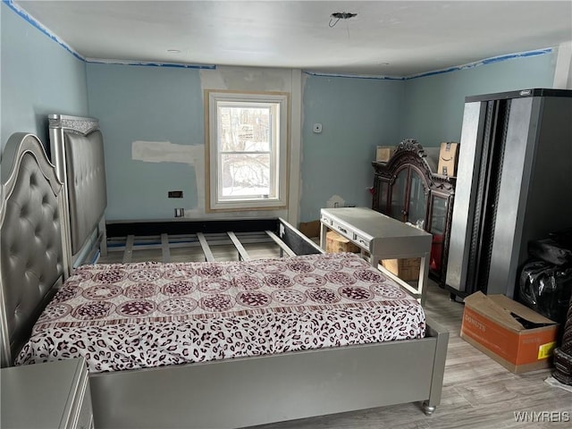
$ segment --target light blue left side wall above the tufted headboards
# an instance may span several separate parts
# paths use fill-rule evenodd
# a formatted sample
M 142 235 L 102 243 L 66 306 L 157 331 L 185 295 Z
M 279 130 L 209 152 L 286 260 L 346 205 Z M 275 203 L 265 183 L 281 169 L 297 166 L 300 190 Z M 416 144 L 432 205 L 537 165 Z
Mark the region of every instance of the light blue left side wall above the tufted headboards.
M 48 114 L 88 114 L 86 64 L 0 4 L 1 147 L 13 132 L 49 146 Z

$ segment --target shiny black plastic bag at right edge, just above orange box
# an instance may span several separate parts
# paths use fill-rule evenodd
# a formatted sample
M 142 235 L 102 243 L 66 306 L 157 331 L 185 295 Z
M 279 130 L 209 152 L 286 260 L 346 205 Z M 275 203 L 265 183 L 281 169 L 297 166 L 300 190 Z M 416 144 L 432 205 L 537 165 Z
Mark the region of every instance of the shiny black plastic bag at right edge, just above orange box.
M 532 260 L 523 266 L 518 300 L 554 322 L 564 324 L 572 295 L 572 267 Z

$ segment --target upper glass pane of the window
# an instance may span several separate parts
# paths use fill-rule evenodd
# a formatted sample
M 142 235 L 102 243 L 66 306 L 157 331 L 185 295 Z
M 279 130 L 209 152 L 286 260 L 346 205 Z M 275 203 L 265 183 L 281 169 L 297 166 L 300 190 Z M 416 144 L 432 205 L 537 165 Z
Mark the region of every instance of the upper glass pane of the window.
M 231 106 L 220 103 L 218 121 L 221 152 L 270 151 L 269 107 Z

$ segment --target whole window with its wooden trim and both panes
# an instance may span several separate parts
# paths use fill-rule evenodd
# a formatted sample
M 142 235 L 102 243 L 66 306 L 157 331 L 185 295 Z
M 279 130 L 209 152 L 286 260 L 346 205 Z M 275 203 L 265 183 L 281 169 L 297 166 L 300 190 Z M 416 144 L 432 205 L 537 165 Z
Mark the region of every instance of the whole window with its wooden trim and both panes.
M 288 95 L 206 91 L 210 210 L 286 206 Z

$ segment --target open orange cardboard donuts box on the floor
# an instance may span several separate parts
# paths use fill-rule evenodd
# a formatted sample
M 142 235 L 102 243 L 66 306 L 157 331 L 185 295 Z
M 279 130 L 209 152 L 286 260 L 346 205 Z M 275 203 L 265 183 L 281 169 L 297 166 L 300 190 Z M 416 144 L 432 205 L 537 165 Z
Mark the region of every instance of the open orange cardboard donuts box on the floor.
M 504 295 L 465 299 L 461 338 L 513 373 L 551 366 L 557 332 L 556 322 Z

